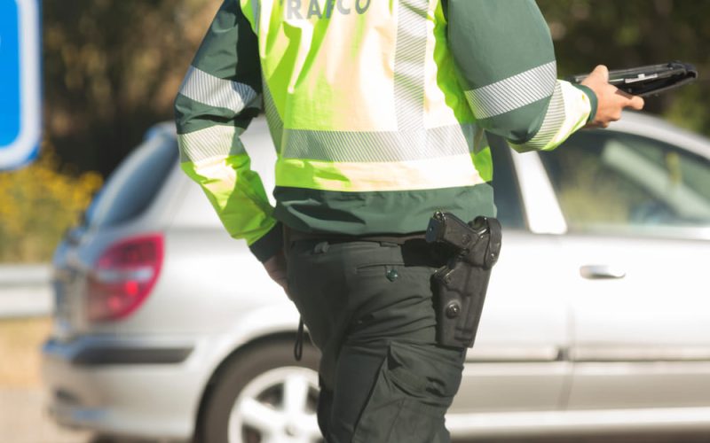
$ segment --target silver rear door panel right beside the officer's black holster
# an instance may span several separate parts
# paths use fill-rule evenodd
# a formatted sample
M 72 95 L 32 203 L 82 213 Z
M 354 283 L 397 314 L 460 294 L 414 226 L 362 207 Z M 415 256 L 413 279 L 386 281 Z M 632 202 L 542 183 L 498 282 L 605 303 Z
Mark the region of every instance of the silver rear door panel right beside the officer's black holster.
M 559 357 L 571 336 L 566 294 L 548 288 L 562 257 L 556 243 L 554 237 L 506 233 L 452 413 L 561 408 L 571 367 Z M 548 274 L 531 266 L 540 261 L 548 263 Z M 520 281 L 529 284 L 524 288 Z

